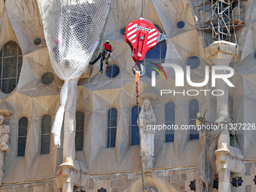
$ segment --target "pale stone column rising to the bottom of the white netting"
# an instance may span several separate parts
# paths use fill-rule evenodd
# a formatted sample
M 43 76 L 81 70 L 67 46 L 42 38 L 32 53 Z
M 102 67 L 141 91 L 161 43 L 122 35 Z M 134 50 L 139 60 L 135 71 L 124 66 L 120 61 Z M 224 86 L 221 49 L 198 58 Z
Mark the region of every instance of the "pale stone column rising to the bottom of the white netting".
M 63 174 L 63 192 L 73 192 L 74 181 L 71 175 L 74 169 L 75 161 L 75 111 L 77 103 L 79 78 L 69 81 L 69 96 L 66 102 L 65 119 L 64 119 L 64 141 L 63 141 L 63 163 L 59 165 Z

